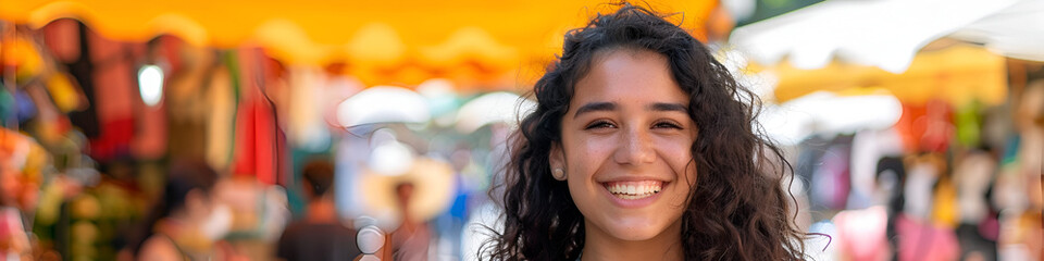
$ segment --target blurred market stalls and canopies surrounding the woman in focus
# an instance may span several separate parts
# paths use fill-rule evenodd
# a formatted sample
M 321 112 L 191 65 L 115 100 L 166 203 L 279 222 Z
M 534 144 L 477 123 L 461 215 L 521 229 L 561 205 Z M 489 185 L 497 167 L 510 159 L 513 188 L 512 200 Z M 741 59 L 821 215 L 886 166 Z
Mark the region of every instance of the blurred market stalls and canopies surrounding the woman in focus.
M 765 101 L 816 260 L 1044 260 L 1044 1 L 644 4 Z M 0 2 L 0 259 L 474 260 L 526 91 L 611 10 Z

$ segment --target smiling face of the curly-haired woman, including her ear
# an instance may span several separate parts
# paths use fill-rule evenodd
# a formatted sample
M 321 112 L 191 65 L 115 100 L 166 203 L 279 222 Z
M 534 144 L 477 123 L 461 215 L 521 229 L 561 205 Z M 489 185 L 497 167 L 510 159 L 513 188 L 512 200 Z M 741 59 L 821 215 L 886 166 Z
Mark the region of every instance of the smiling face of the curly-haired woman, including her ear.
M 617 48 L 594 57 L 549 159 L 567 173 L 588 238 L 680 237 L 697 177 L 687 108 L 662 54 Z

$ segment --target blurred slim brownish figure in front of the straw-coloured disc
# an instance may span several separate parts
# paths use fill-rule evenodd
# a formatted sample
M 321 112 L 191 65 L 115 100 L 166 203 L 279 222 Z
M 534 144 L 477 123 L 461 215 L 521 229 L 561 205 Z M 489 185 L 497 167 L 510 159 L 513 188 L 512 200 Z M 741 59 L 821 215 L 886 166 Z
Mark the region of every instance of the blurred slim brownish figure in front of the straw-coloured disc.
M 432 231 L 424 221 L 417 220 L 410 211 L 413 197 L 413 183 L 403 182 L 395 186 L 395 195 L 402 213 L 402 224 L 391 233 L 391 257 L 395 260 L 427 260 Z

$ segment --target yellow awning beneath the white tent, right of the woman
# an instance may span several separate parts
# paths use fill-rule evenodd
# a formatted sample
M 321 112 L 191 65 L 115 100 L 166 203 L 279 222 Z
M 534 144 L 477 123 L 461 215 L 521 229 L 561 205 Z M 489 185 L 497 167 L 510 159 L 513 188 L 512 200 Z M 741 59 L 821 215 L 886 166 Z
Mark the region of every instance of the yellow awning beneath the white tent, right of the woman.
M 818 70 L 799 70 L 786 63 L 767 70 L 780 77 L 778 102 L 828 90 L 853 95 L 885 91 L 910 104 L 930 99 L 956 105 L 972 100 L 999 104 L 1008 90 L 1005 58 L 970 45 L 921 51 L 902 74 L 836 61 Z

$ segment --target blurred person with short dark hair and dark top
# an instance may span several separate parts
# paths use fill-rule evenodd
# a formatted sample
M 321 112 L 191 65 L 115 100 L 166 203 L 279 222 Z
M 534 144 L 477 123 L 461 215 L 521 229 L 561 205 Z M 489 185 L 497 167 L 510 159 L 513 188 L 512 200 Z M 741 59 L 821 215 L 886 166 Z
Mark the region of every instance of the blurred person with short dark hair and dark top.
M 301 171 L 308 198 L 304 217 L 290 223 L 279 237 L 276 257 L 297 260 L 353 260 L 362 253 L 356 245 L 357 232 L 337 216 L 334 206 L 334 165 L 312 161 Z

